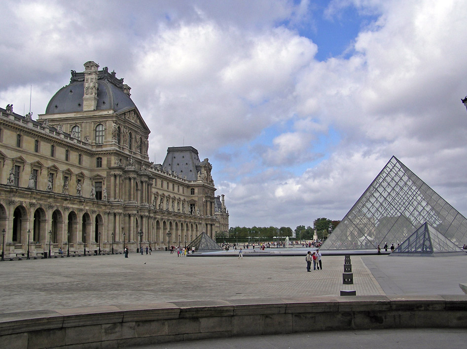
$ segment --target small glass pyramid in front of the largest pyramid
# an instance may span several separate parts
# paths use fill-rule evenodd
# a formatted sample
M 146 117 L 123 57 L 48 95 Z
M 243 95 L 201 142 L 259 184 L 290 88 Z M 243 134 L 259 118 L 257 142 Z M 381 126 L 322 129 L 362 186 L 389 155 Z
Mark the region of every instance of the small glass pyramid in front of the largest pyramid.
M 466 253 L 446 238 L 443 234 L 425 222 L 415 230 L 407 240 L 391 255 L 439 255 L 439 254 L 462 254 Z

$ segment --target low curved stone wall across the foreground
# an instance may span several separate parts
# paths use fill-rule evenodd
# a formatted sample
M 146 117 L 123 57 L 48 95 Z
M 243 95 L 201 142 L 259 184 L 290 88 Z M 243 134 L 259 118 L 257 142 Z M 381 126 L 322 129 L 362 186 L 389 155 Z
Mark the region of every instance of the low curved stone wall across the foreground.
M 467 295 L 238 299 L 1 314 L 1 348 L 125 348 L 206 338 L 467 328 Z

